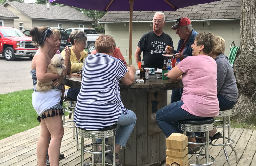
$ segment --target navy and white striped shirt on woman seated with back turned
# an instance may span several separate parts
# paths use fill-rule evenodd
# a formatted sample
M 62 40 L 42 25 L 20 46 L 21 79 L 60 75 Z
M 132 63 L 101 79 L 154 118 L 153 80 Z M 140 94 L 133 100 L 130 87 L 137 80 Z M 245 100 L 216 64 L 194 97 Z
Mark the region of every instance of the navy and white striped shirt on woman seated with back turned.
M 85 59 L 81 90 L 77 96 L 76 127 L 98 130 L 115 124 L 121 111 L 119 81 L 128 72 L 124 63 L 106 54 L 92 54 Z

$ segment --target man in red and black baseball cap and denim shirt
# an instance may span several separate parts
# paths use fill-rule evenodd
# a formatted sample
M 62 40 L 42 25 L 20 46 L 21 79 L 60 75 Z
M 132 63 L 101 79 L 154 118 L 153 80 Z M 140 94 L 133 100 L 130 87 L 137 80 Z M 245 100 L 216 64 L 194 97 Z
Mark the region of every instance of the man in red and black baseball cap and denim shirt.
M 192 48 L 190 46 L 194 43 L 195 37 L 198 33 L 193 30 L 190 19 L 187 17 L 177 19 L 171 29 L 176 30 L 176 34 L 180 37 L 177 51 L 173 50 L 174 53 L 176 53 L 175 58 L 181 61 L 187 56 L 192 56 Z M 171 50 L 168 50 L 167 46 L 165 51 L 167 53 L 171 53 L 172 48 Z M 183 89 L 172 90 L 171 103 L 180 101 L 182 92 Z

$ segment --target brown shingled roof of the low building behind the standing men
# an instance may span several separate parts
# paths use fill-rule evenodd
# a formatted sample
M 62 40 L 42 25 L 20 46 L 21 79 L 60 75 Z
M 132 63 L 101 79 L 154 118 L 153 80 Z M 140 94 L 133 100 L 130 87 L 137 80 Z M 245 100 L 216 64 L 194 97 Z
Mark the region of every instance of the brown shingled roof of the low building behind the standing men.
M 156 11 L 133 11 L 133 22 L 151 22 Z M 221 0 L 180 8 L 177 11 L 159 11 L 165 14 L 165 21 L 176 21 L 188 17 L 194 21 L 241 19 L 241 0 Z M 109 11 L 99 21 L 129 22 L 129 11 Z

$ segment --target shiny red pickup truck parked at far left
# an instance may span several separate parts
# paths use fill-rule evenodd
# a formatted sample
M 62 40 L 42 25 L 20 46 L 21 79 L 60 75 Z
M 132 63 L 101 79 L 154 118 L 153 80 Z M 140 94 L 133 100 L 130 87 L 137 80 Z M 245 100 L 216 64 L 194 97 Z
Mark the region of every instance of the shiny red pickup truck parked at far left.
M 17 57 L 30 57 L 36 54 L 38 47 L 31 37 L 24 35 L 13 27 L 0 27 L 0 56 L 7 61 L 14 61 Z

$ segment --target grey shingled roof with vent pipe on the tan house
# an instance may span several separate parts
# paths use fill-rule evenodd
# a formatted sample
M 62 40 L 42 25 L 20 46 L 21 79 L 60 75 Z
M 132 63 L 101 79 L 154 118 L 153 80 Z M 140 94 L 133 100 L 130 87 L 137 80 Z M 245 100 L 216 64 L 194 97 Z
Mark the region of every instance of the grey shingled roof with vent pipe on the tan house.
M 24 2 L 6 1 L 3 5 L 10 4 L 12 7 L 25 13 L 31 19 L 57 19 L 57 20 L 72 20 L 72 21 L 87 21 L 95 22 L 90 17 L 84 15 L 73 7 L 49 5 L 47 4 L 34 4 Z

